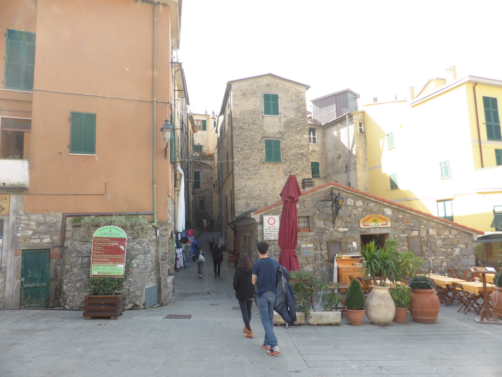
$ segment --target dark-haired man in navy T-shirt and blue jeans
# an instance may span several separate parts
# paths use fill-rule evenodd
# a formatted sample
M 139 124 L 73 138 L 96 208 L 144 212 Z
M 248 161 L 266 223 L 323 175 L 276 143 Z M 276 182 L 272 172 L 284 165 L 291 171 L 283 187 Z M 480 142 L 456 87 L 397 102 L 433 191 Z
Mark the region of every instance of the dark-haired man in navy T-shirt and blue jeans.
M 260 310 L 260 318 L 265 330 L 265 340 L 262 347 L 267 350 L 268 355 L 280 353 L 277 345 L 276 334 L 274 334 L 274 304 L 276 301 L 276 277 L 279 269 L 279 262 L 267 256 L 269 244 L 265 241 L 256 244 L 258 259 L 253 263 L 253 284 L 258 284 L 257 305 Z

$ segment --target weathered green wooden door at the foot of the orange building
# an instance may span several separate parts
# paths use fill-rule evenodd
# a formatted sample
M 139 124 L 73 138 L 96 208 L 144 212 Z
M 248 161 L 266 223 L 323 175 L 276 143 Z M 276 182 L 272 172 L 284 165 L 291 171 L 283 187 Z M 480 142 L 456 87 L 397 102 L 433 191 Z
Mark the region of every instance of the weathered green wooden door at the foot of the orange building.
M 49 307 L 49 249 L 23 250 L 21 309 Z

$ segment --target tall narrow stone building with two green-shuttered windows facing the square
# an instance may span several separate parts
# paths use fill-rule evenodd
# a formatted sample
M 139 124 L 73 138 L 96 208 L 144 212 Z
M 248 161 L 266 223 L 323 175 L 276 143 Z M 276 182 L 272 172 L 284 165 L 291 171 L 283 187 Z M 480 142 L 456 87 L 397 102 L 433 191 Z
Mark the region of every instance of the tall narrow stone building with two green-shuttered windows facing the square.
M 272 73 L 227 83 L 217 120 L 217 190 L 229 250 L 235 247 L 229 220 L 275 203 L 290 174 L 311 177 L 308 88 Z

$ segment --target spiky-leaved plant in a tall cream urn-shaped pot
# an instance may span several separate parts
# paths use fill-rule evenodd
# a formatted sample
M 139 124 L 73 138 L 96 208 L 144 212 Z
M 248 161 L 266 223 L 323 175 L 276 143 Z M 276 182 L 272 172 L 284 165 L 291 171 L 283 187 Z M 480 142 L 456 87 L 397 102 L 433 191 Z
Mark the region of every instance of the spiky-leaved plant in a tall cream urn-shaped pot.
M 394 319 L 396 307 L 386 287 L 388 277 L 396 274 L 396 264 L 393 256 L 397 252 L 398 242 L 395 239 L 385 241 L 384 247 L 375 246 L 374 241 L 363 246 L 361 256 L 363 263 L 361 271 L 366 271 L 366 275 L 371 276 L 373 286 L 366 299 L 366 317 L 375 325 L 385 325 Z M 376 277 L 380 276 L 380 284 L 377 284 Z

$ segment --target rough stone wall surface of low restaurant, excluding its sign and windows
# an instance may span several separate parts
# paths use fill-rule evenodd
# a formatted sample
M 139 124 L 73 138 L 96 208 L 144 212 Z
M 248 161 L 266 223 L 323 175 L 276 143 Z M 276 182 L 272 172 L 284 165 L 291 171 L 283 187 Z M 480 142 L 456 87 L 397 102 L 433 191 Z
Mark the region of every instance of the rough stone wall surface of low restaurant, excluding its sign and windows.
M 312 230 L 308 233 L 298 233 L 296 253 L 302 270 L 331 281 L 333 261 L 328 260 L 328 241 L 340 242 L 343 254 L 358 254 L 361 249 L 361 235 L 377 233 L 396 239 L 400 251 L 408 250 L 409 236 L 420 236 L 423 243 L 423 255 L 419 257 L 424 261 L 424 269 L 433 268 L 439 273 L 445 273 L 446 268 L 463 269 L 475 266 L 473 232 L 439 218 L 421 215 L 411 209 L 374 199 L 364 193 L 343 191 L 337 186 L 334 189 L 341 192 L 345 201 L 333 227 L 331 202 L 326 201 L 329 199 L 331 188 L 328 185 L 324 189 L 314 189 L 300 197 L 298 215 L 310 216 Z M 252 239 L 258 237 L 262 240 L 262 215 L 280 215 L 281 209 L 282 206 L 277 206 L 260 212 L 256 215 L 259 216 L 260 223 L 238 227 L 239 245 L 244 245 L 244 236 L 250 236 Z M 369 214 L 382 214 L 390 218 L 391 227 L 361 229 L 359 220 Z M 280 253 L 278 241 L 267 242 L 271 244 L 272 253 L 269 254 L 278 259 Z M 353 242 L 355 242 L 355 248 L 352 245 Z M 314 255 L 301 256 L 300 245 L 302 243 L 312 243 Z M 249 253 L 253 261 L 256 260 L 258 255 L 254 246 L 249 249 L 245 251 Z

